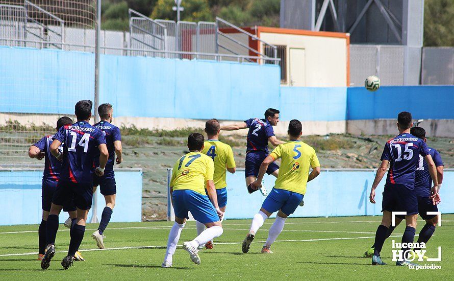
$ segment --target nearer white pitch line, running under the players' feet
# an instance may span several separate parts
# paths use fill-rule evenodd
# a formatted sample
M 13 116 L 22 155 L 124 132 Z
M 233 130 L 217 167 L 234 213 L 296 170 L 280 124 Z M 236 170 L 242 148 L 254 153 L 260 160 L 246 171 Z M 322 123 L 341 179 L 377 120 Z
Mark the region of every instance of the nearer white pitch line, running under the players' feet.
M 417 236 L 417 235 L 415 235 Z M 399 237 L 398 235 L 391 235 L 390 237 Z M 340 238 L 321 238 L 321 239 L 306 239 L 306 240 L 276 240 L 274 242 L 313 242 L 313 241 L 334 241 L 334 240 L 352 240 L 352 239 L 370 239 L 375 238 L 374 236 L 368 237 L 340 237 Z M 257 241 L 253 243 L 265 243 L 266 241 Z M 238 245 L 243 242 L 216 242 L 216 245 Z M 181 247 L 178 245 L 177 247 Z M 81 249 L 81 252 L 92 252 L 92 251 L 111 251 L 111 250 L 130 250 L 130 249 L 153 249 L 153 248 L 166 248 L 167 246 L 138 246 L 138 247 L 118 247 L 118 248 L 105 248 L 105 249 Z M 67 251 L 56 251 L 56 253 L 66 253 Z M 219 252 L 222 253 L 222 252 Z M 17 255 L 33 255 L 38 252 L 31 253 L 20 253 L 20 254 L 0 254 L 0 256 L 17 256 Z M 7 260 L 4 260 L 7 261 Z

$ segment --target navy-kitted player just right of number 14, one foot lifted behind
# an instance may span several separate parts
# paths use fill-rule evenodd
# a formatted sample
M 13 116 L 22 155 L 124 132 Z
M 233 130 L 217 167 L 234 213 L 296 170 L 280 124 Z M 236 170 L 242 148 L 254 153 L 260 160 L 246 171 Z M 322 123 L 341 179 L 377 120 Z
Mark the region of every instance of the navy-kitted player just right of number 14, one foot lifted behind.
M 113 166 L 115 163 L 115 154 L 117 155 L 116 163 L 117 165 L 123 161 L 122 157 L 122 148 L 121 148 L 121 134 L 120 129 L 115 125 L 112 125 L 112 116 L 113 109 L 112 105 L 104 103 L 98 107 L 100 122 L 93 125 L 93 127 L 98 128 L 104 132 L 107 143 L 107 150 L 109 151 L 109 159 L 107 160 L 106 170 L 104 171 L 104 176 L 98 177 L 94 175 L 93 177 L 93 193 L 96 192 L 96 187 L 99 185 L 101 194 L 104 195 L 106 200 L 106 207 L 104 207 L 103 214 L 101 215 L 101 221 L 99 227 L 96 231 L 93 232 L 91 237 L 96 241 L 96 244 L 99 249 L 104 249 L 104 230 L 109 224 L 110 218 L 112 217 L 112 211 L 115 207 L 115 197 L 117 193 L 117 187 L 115 183 L 115 173 L 113 171 Z M 95 166 L 98 167 L 99 160 L 95 158 Z

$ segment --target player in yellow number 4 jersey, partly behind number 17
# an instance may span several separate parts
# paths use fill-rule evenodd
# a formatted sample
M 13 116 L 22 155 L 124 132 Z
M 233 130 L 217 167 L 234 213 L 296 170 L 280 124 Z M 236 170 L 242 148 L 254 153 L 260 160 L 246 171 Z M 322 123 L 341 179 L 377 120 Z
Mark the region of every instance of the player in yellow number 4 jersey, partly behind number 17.
M 228 144 L 219 141 L 219 128 L 219 121 L 217 119 L 211 119 L 205 123 L 205 132 L 207 133 L 208 140 L 205 142 L 204 149 L 201 150 L 201 153 L 207 154 L 214 161 L 213 180 L 214 187 L 216 188 L 217 203 L 225 217 L 225 206 L 227 205 L 227 183 L 225 176 L 226 171 L 232 174 L 235 173 L 235 159 L 233 158 L 232 148 Z M 197 228 L 197 234 L 200 234 L 205 229 L 205 225 L 198 221 L 195 222 L 195 226 Z M 200 245 L 201 248 L 203 246 Z M 213 241 L 207 242 L 205 247 L 212 249 Z

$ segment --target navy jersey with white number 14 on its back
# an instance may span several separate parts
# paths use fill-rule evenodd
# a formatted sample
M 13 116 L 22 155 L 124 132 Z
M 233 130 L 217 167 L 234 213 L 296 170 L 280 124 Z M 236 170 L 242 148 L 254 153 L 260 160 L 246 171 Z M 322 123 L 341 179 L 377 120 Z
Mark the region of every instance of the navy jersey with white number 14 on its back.
M 54 136 L 64 143 L 61 181 L 93 182 L 93 162 L 100 144 L 106 144 L 104 133 L 85 121 L 61 127 Z

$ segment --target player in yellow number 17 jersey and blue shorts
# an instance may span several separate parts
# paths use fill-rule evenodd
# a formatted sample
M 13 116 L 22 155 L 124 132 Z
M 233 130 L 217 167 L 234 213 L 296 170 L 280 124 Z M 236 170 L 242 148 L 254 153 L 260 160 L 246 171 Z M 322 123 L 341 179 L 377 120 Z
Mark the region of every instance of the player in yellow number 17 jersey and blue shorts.
M 175 223 L 170 229 L 162 267 L 172 267 L 172 256 L 186 219 L 189 218 L 188 212 L 191 212 L 195 220 L 207 227 L 194 240 L 183 243 L 183 249 L 189 252 L 191 260 L 195 264 L 200 264 L 200 257 L 197 254 L 198 246 L 205 245 L 208 241 L 222 235 L 219 220 L 224 213 L 217 204 L 213 182 L 214 162 L 207 155 L 200 153 L 200 150 L 204 148 L 204 136 L 199 133 L 190 134 L 188 148 L 189 153 L 180 157 L 173 166 L 170 179 Z M 207 189 L 209 197 L 206 195 L 205 189 Z

